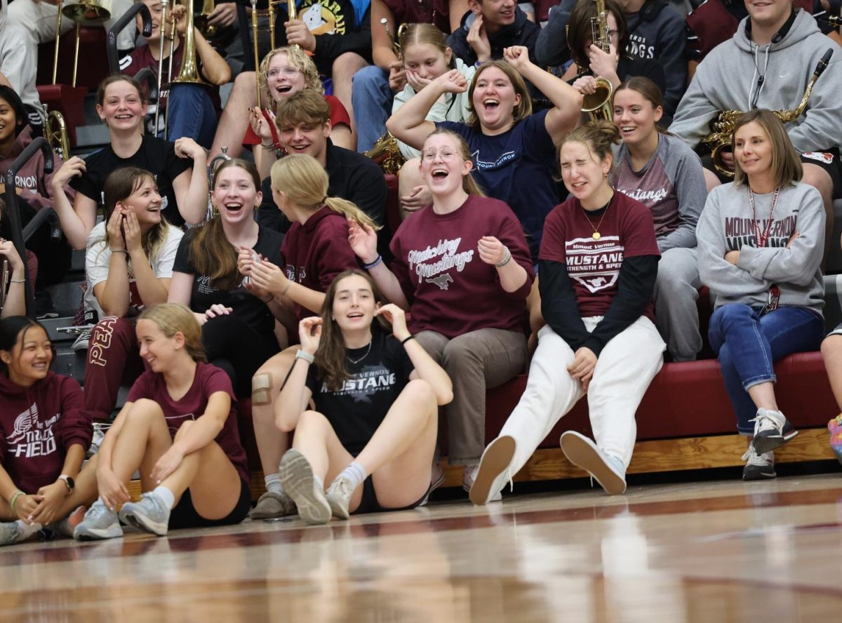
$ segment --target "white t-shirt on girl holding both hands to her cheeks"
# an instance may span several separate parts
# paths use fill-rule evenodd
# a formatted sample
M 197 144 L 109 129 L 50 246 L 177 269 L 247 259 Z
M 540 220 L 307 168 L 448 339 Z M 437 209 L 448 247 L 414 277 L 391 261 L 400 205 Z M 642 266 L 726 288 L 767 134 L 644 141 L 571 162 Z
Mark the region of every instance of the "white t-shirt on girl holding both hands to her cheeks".
M 152 267 L 152 272 L 158 279 L 172 279 L 173 277 L 173 262 L 175 261 L 175 253 L 179 250 L 179 242 L 184 237 L 178 227 L 168 226 L 167 238 L 164 240 L 163 247 L 157 254 L 155 261 L 150 261 L 149 265 Z M 88 290 L 85 292 L 85 307 L 88 309 L 95 309 L 99 314 L 99 318 L 103 318 L 105 313 L 102 307 L 99 306 L 97 297 L 93 296 L 93 286 L 108 280 L 108 269 L 111 261 L 111 249 L 105 244 L 105 221 L 99 222 L 93 227 L 90 234 L 88 234 L 88 242 L 85 243 L 85 275 L 88 281 Z M 135 283 L 135 275 L 131 270 L 129 264 L 129 296 L 131 300 L 131 290 Z M 137 297 L 136 297 L 137 300 Z M 141 304 L 134 304 L 127 316 L 134 316 L 141 311 Z

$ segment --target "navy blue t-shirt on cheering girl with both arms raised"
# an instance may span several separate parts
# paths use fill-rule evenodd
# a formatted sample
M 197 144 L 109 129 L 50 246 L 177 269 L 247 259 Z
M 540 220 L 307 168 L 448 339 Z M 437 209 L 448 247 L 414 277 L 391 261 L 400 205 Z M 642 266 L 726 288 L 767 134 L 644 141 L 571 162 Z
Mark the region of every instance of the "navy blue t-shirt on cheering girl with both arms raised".
M 508 132 L 486 136 L 455 121 L 436 127 L 462 136 L 471 150 L 473 176 L 489 197 L 505 201 L 520 220 L 532 259 L 538 261 L 544 219 L 559 203 L 556 146 L 546 131 L 547 110 L 516 123 Z

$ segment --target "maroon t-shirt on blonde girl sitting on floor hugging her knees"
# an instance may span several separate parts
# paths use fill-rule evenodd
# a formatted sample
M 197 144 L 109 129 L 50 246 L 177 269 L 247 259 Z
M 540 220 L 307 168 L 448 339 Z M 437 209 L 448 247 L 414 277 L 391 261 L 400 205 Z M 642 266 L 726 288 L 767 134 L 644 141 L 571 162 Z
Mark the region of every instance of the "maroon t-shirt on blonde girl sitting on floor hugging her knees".
M 141 398 L 157 402 L 163 410 L 164 418 L 167 418 L 169 434 L 175 439 L 175 434 L 184 422 L 196 420 L 205 413 L 208 398 L 217 391 L 224 391 L 231 397 L 231 411 L 228 412 L 225 425 L 214 441 L 225 452 L 242 480 L 251 482 L 246 450 L 242 449 L 240 433 L 237 429 L 237 398 L 234 397 L 234 391 L 231 388 L 231 379 L 216 365 L 198 363 L 193 385 L 179 400 L 174 400 L 169 395 L 163 374 L 147 370 L 131 386 L 126 402 L 136 402 Z

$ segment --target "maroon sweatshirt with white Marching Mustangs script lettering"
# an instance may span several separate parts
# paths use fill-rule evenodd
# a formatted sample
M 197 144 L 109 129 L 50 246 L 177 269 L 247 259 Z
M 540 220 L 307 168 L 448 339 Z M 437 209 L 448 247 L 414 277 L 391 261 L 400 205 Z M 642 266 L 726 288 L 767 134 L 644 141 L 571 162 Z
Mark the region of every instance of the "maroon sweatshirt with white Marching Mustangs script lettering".
M 483 236 L 497 237 L 509 247 L 510 261 L 526 270 L 518 290 L 506 292 L 497 269 L 480 259 L 477 242 Z M 436 214 L 431 205 L 418 210 L 398 227 L 391 248 L 413 333 L 456 338 L 482 328 L 524 330 L 535 269 L 523 227 L 503 201 L 472 194 L 450 214 Z

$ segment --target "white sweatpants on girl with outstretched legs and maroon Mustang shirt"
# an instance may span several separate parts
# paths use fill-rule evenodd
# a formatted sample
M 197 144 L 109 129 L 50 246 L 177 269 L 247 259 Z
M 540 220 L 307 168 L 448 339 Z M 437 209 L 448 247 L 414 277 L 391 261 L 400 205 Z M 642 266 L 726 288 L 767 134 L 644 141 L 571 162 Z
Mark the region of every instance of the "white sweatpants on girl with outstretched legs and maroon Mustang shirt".
M 588 331 L 601 316 L 584 318 Z M 588 410 L 594 441 L 628 467 L 637 436 L 634 415 L 649 383 L 663 365 L 666 345 L 647 317 L 640 317 L 602 349 L 588 388 Z M 568 374 L 573 349 L 547 325 L 538 332 L 529 380 L 500 436 L 514 438 L 510 473 L 516 474 L 579 398 L 582 383 Z

